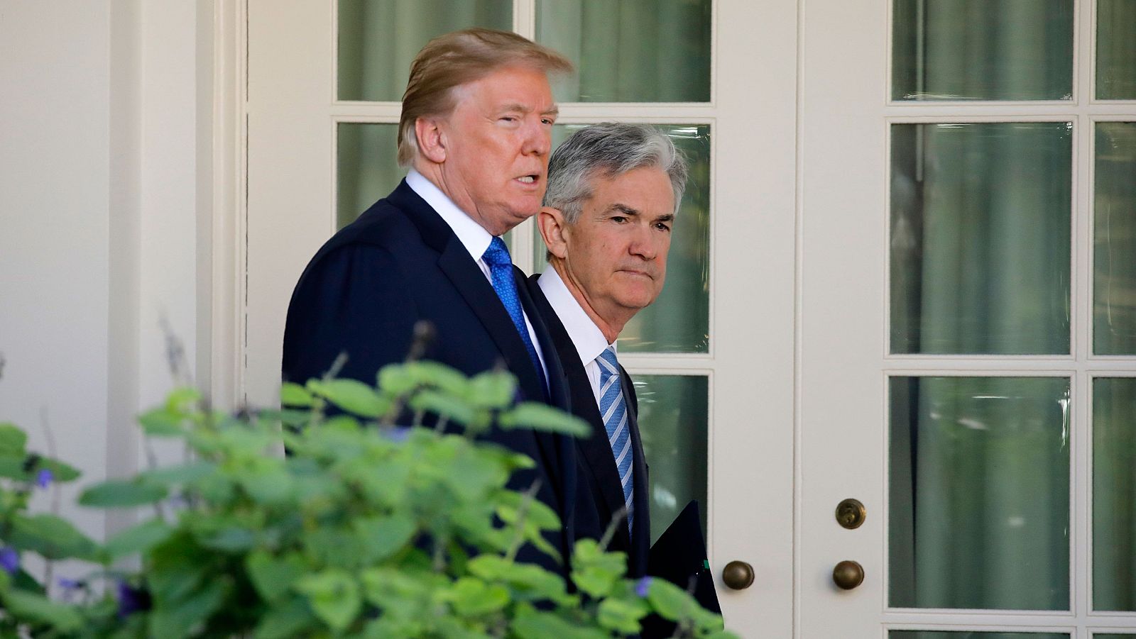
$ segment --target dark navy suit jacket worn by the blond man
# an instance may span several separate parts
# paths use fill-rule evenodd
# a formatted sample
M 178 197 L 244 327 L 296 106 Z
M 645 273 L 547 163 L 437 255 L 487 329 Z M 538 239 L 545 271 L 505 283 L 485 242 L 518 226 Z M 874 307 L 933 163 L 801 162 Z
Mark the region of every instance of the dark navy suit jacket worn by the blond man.
M 533 308 L 524 274 L 515 269 L 518 294 L 536 331 L 549 370 L 549 393 L 485 274 L 449 225 L 406 180 L 316 253 L 292 294 L 284 329 L 283 377 L 303 384 L 323 376 L 348 354 L 340 377 L 375 384 L 379 368 L 406 359 L 415 322 L 434 325 L 424 355 L 466 375 L 504 362 L 517 376 L 520 400 L 548 401 L 568 410 L 562 372 L 551 337 Z M 566 436 L 531 430 L 492 430 L 487 439 L 524 453 L 536 468 L 518 471 L 510 487 L 541 481 L 537 497 L 561 518 L 549 540 L 565 564 L 531 546 L 518 558 L 567 577 L 575 540 L 575 446 Z

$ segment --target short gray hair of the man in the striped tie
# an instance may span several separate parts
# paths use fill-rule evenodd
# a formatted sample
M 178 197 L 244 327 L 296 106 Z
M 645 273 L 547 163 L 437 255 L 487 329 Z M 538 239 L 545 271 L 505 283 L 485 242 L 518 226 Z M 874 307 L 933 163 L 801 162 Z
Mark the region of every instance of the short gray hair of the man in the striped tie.
M 610 178 L 644 167 L 667 174 L 678 212 L 688 169 L 667 134 L 645 124 L 603 123 L 582 128 L 549 158 L 544 205 L 559 209 L 568 224 L 576 224 L 584 202 L 592 196 L 593 177 Z

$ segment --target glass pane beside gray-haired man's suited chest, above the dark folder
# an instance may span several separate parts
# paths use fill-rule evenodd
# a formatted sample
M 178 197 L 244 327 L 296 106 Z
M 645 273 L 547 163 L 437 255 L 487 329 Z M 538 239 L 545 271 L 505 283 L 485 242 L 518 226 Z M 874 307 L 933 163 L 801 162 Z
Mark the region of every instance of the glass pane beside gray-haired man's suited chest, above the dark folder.
M 709 380 L 678 375 L 632 378 L 638 396 L 643 455 L 651 464 L 651 543 L 691 499 L 699 502 L 705 536 Z

